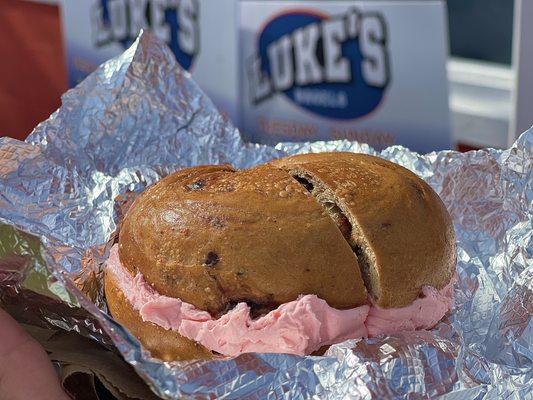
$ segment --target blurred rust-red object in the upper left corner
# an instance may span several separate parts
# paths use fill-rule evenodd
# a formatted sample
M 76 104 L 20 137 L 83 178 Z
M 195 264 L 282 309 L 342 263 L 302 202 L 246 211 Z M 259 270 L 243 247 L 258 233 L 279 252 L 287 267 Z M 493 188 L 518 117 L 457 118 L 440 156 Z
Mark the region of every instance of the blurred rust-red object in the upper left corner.
M 68 88 L 59 7 L 0 0 L 0 136 L 25 139 Z

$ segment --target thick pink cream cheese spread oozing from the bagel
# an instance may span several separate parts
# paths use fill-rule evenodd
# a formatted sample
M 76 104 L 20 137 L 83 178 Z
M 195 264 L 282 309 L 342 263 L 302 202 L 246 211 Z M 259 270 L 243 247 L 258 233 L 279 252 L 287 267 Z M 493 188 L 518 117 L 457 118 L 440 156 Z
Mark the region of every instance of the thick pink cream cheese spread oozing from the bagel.
M 213 319 L 192 304 L 157 293 L 142 274 L 133 277 L 120 262 L 118 246 L 111 249 L 106 268 L 143 321 L 177 331 L 227 356 L 250 352 L 307 355 L 347 339 L 429 329 L 453 305 L 452 281 L 440 291 L 423 287 L 423 296 L 402 308 L 384 309 L 370 301 L 370 305 L 337 310 L 315 295 L 302 295 L 255 320 L 246 303 Z

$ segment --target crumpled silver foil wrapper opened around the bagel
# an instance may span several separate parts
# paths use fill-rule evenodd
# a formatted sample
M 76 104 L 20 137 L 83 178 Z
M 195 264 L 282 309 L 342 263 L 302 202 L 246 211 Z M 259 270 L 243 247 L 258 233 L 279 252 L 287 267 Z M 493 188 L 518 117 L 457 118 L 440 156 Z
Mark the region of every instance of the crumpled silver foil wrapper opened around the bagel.
M 533 129 L 508 150 L 465 154 L 245 144 L 149 33 L 62 103 L 25 142 L 0 139 L 0 304 L 19 319 L 115 347 L 167 399 L 531 398 Z M 147 185 L 186 166 L 332 150 L 399 163 L 448 207 L 456 304 L 437 327 L 348 341 L 322 357 L 163 363 L 106 314 L 101 264 L 128 199 Z

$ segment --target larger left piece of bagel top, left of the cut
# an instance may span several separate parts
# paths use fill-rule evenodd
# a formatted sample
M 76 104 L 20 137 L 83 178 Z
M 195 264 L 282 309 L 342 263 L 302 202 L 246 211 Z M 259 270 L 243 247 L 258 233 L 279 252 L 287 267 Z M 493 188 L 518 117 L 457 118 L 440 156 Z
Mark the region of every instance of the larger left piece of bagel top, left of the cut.
M 126 214 L 119 255 L 159 293 L 213 315 L 272 309 L 301 294 L 366 302 L 357 258 L 323 208 L 270 165 L 196 167 L 161 180 Z

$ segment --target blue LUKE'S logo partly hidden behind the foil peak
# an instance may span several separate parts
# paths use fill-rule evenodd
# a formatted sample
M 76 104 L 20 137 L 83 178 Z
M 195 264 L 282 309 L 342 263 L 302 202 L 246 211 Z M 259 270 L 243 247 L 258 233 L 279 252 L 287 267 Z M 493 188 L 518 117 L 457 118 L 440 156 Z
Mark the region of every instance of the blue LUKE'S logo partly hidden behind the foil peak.
M 100 0 L 91 10 L 96 46 L 120 43 L 131 46 L 141 29 L 163 39 L 178 63 L 189 70 L 199 50 L 198 1 Z

